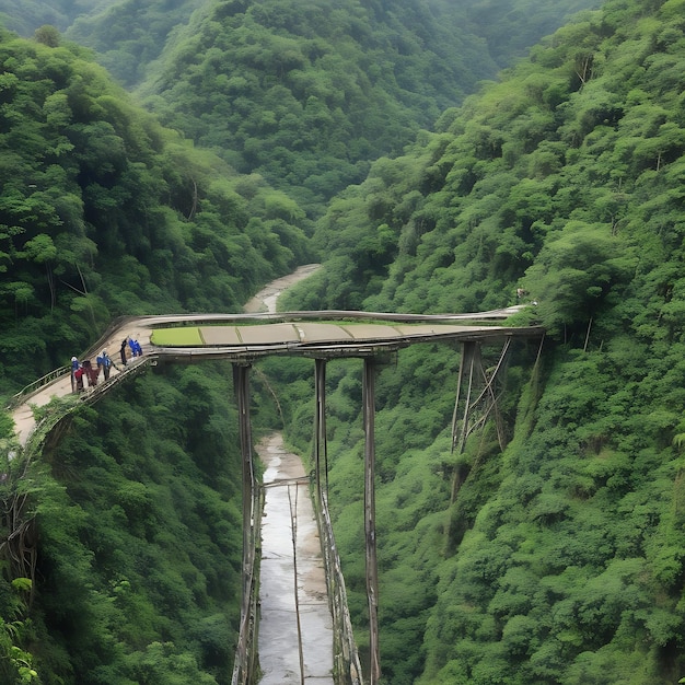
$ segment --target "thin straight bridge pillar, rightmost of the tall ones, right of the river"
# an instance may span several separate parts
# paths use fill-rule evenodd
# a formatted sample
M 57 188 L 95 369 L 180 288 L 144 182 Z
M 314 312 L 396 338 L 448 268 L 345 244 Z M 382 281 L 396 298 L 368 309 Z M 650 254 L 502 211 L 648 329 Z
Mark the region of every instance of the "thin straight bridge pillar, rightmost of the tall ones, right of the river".
M 381 677 L 379 650 L 379 566 L 375 547 L 375 360 L 364 358 L 363 384 L 364 419 L 364 533 L 367 541 L 367 596 L 369 599 L 369 661 L 370 685 Z

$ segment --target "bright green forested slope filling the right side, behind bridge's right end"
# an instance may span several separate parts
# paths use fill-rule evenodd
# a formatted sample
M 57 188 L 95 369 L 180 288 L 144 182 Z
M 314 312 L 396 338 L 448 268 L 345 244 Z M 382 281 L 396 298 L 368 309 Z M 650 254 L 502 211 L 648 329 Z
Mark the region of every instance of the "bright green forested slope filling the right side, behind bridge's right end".
M 388 683 L 685 674 L 683 10 L 609 2 L 373 164 L 320 225 L 325 269 L 282 303 L 469 311 L 523 288 L 548 328 L 535 373 L 532 350 L 511 362 L 503 451 L 486 431 L 450 453 L 454 351 L 381 373 Z M 330 375 L 328 454 L 362 628 L 359 373 Z

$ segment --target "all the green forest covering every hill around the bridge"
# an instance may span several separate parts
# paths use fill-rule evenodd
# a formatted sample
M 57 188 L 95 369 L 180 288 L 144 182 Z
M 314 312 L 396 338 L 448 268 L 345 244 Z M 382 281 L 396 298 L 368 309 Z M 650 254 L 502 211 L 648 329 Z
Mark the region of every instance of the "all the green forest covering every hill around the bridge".
M 685 2 L 111 5 L 0 2 L 3 406 L 118 316 L 237 312 L 310 260 L 281 310 L 521 291 L 511 323 L 547 333 L 511 352 L 506 440 L 452 449 L 456 348 L 378 372 L 383 683 L 685 682 Z M 253 378 L 256 433 L 307 458 L 310 364 Z M 327 396 L 363 657 L 357 360 Z M 0 681 L 230 682 L 235 411 L 212 362 L 150 369 L 40 454 L 0 413 Z

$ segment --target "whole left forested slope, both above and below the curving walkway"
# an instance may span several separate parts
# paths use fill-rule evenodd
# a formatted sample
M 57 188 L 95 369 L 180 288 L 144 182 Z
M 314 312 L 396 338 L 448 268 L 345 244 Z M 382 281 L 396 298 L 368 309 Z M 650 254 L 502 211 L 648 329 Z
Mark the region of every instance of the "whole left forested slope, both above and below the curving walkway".
M 282 193 L 161 127 L 84 48 L 38 37 L 0 31 L 3 407 L 115 316 L 239 311 L 309 256 Z M 0 682 L 230 682 L 242 591 L 230 376 L 155 367 L 77 408 L 40 454 L 0 413 Z M 38 431 L 51 410 L 36 409 Z

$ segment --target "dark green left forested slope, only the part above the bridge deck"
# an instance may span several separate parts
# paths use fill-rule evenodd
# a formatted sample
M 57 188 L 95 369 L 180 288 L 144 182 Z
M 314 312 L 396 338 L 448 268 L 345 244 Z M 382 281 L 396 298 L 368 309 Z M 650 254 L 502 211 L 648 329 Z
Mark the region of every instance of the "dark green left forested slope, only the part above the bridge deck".
M 14 383 L 114 316 L 239 311 L 307 258 L 292 200 L 162 128 L 83 48 L 42 37 L 0 36 L 0 349 Z

